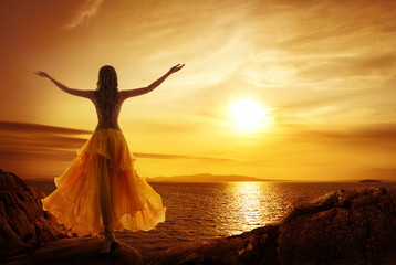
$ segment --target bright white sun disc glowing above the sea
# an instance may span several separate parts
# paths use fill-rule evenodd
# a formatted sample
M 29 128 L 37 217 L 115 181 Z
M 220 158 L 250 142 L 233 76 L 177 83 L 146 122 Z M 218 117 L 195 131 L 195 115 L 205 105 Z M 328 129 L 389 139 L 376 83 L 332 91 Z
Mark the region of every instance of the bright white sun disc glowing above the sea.
M 270 123 L 269 108 L 264 108 L 258 100 L 250 98 L 240 98 L 235 100 L 229 109 L 233 118 L 235 126 L 244 131 L 259 131 Z

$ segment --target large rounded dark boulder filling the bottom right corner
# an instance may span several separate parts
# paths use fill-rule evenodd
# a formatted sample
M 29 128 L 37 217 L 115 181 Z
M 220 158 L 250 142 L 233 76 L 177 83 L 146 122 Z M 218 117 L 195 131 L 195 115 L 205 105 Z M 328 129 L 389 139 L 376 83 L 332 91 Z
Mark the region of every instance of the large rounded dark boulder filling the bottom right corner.
M 396 264 L 396 190 L 342 190 L 295 208 L 278 243 L 281 264 Z

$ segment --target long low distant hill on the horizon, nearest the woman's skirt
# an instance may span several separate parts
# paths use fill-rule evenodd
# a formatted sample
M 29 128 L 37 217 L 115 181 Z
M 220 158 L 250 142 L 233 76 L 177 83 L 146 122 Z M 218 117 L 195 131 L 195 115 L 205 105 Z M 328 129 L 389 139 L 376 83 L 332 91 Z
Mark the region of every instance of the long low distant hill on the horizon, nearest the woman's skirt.
M 259 179 L 239 174 L 189 174 L 174 177 L 155 177 L 148 178 L 149 182 L 221 182 L 221 181 L 278 181 L 272 179 Z

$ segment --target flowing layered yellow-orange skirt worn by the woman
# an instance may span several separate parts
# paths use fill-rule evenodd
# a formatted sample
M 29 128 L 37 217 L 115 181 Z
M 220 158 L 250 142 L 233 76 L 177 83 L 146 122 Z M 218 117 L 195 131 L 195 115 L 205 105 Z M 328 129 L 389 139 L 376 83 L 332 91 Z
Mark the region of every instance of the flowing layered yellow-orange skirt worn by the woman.
M 70 234 L 148 231 L 165 221 L 160 195 L 136 173 L 135 158 L 117 129 L 95 130 L 67 169 L 55 178 L 56 190 L 42 199 Z

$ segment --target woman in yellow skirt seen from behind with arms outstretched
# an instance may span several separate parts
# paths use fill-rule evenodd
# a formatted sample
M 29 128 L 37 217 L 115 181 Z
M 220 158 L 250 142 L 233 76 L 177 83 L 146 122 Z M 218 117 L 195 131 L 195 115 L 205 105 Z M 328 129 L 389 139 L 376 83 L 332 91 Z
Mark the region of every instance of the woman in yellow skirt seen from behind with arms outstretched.
M 42 204 L 70 234 L 94 236 L 103 227 L 101 253 L 110 253 L 118 243 L 114 231 L 148 231 L 165 221 L 160 195 L 134 169 L 135 159 L 118 126 L 118 115 L 125 99 L 153 91 L 184 66 L 175 65 L 147 87 L 127 91 L 118 91 L 117 74 L 110 65 L 100 70 L 96 91 L 72 89 L 45 72 L 35 72 L 65 93 L 88 98 L 95 105 L 98 124 L 94 134 L 54 179 L 56 190 L 42 199 Z

